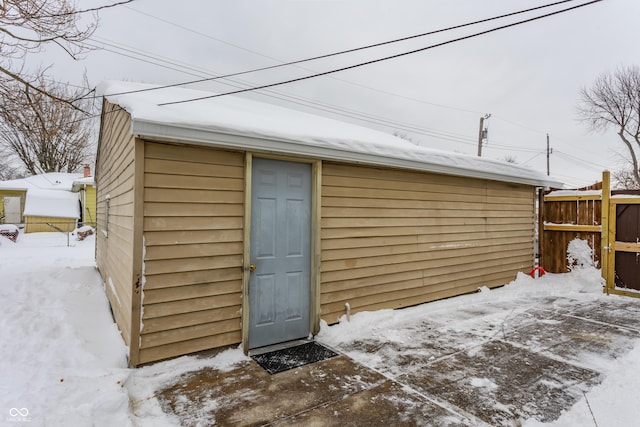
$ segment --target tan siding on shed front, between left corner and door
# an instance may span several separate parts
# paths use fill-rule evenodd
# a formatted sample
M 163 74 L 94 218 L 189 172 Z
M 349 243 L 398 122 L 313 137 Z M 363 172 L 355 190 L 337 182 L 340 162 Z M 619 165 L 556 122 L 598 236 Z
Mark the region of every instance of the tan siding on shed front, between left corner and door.
M 145 144 L 140 363 L 241 341 L 243 153 Z

